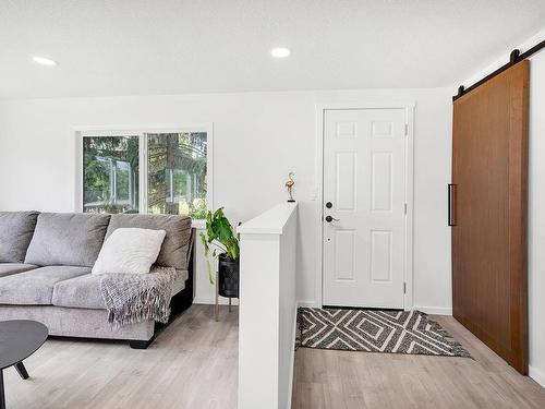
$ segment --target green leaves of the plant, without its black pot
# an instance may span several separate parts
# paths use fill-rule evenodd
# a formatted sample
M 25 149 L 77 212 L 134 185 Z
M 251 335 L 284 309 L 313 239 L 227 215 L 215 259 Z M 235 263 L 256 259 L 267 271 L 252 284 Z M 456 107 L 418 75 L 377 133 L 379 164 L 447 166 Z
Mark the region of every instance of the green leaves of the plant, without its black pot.
M 216 260 L 221 253 L 226 253 L 232 260 L 239 258 L 240 234 L 223 214 L 223 207 L 206 215 L 206 234 L 201 232 L 201 241 L 205 249 L 206 265 L 208 267 L 208 279 L 214 285 L 216 281 L 211 272 L 210 260 Z

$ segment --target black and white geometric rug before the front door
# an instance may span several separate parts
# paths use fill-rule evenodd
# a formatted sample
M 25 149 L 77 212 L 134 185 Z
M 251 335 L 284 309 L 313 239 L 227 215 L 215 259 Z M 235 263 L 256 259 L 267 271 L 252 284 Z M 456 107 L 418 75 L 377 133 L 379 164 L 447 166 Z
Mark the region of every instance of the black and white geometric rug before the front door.
M 299 347 L 471 357 L 439 324 L 420 311 L 300 308 L 298 325 Z

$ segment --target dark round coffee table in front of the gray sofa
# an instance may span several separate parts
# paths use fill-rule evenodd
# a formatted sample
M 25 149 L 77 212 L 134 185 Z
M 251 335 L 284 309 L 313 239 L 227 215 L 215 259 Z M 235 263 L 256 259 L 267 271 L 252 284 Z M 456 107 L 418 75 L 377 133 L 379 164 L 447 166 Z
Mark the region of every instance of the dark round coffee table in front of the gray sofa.
M 36 321 L 0 321 L 0 409 L 5 409 L 3 370 L 15 365 L 23 380 L 28 378 L 23 360 L 41 347 L 47 327 Z

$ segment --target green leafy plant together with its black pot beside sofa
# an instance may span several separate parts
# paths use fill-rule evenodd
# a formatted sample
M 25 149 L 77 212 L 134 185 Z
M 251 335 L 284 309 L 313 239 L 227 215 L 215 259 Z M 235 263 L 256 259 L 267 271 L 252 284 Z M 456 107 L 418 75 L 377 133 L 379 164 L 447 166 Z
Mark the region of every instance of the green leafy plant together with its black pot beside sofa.
M 216 284 L 210 260 L 218 258 L 218 292 L 221 297 L 239 298 L 240 234 L 223 214 L 223 207 L 208 212 L 206 234 L 201 232 L 205 249 L 208 278 Z M 211 251 L 210 251 L 211 250 Z

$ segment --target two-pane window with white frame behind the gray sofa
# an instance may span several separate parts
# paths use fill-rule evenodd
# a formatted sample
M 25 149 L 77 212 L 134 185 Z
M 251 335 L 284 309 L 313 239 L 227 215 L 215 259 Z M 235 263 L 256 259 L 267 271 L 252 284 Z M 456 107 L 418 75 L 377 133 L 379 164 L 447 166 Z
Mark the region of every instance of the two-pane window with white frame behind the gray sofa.
M 77 134 L 77 210 L 204 219 L 213 207 L 211 127 Z

